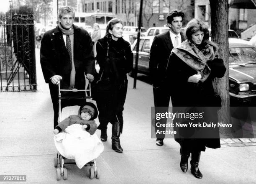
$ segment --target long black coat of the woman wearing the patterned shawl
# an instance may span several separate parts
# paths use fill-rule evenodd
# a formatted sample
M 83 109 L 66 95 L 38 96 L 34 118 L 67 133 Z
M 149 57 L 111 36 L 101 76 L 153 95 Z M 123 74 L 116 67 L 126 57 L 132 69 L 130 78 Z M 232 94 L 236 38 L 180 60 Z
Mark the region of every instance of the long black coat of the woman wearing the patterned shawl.
M 221 101 L 212 86 L 212 79 L 223 77 L 225 66 L 222 59 L 208 61 L 211 69 L 210 76 L 205 82 L 192 83 L 187 82 L 188 78 L 197 72 L 182 61 L 176 54 L 172 53 L 169 57 L 169 67 L 167 68 L 168 85 L 172 85 L 170 92 L 173 107 L 212 107 L 221 106 Z M 217 111 L 215 113 L 217 118 Z M 197 150 L 205 151 L 205 146 L 209 148 L 220 148 L 220 140 L 215 139 L 175 139 L 181 147 L 196 147 Z M 181 150 L 182 151 L 182 150 Z

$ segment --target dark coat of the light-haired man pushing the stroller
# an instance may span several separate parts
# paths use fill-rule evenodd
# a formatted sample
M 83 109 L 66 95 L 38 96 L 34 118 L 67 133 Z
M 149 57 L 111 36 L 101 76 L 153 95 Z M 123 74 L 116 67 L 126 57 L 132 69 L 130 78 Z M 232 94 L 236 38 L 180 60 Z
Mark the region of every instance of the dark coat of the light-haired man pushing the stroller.
M 85 74 L 94 74 L 95 57 L 92 39 L 87 31 L 74 26 L 74 66 L 76 70 L 75 88 L 84 89 Z M 50 78 L 60 75 L 62 83 L 69 87 L 71 64 L 59 27 L 47 31 L 41 40 L 40 61 L 46 83 Z

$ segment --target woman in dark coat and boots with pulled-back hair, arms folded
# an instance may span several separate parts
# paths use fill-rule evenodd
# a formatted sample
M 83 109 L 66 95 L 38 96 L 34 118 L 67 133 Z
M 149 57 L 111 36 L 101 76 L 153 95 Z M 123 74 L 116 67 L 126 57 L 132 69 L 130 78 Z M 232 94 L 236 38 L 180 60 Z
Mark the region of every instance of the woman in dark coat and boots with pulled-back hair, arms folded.
M 123 130 L 123 105 L 127 92 L 127 77 L 133 67 L 131 45 L 122 38 L 123 23 L 114 18 L 108 22 L 106 35 L 96 44 L 100 65 L 101 94 L 97 95 L 101 130 L 100 138 L 107 141 L 107 125 L 112 124 L 112 149 L 122 153 L 120 133 Z

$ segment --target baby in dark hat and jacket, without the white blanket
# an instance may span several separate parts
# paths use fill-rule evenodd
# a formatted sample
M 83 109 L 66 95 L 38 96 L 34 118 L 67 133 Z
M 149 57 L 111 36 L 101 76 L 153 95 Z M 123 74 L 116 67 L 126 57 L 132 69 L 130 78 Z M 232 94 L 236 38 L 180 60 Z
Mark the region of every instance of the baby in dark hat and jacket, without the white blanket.
M 64 131 L 68 126 L 73 124 L 82 125 L 82 129 L 89 132 L 91 135 L 97 130 L 95 118 L 97 118 L 97 107 L 91 102 L 85 102 L 79 109 L 79 115 L 70 115 L 68 118 L 61 121 L 54 129 L 54 134 Z

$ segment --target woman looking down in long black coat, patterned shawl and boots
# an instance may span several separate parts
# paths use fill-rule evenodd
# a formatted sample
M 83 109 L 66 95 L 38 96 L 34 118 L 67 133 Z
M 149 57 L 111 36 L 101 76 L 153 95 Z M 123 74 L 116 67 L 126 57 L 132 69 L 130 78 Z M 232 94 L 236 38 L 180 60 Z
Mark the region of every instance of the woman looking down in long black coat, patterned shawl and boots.
M 168 61 L 167 74 L 169 81 L 175 87 L 171 91 L 172 105 L 173 107 L 221 106 L 220 97 L 215 95 L 212 86 L 212 80 L 215 77 L 223 77 L 226 71 L 223 60 L 218 59 L 218 46 L 209 41 L 207 26 L 197 19 L 192 19 L 187 24 L 186 36 L 187 40 L 172 50 Z M 216 123 L 217 110 L 209 114 L 214 115 Z M 207 115 L 204 114 L 204 117 L 207 118 Z M 205 146 L 220 148 L 220 139 L 216 137 L 219 135 L 215 138 L 175 138 L 181 146 L 180 167 L 183 172 L 187 172 L 187 162 L 191 153 L 191 172 L 196 178 L 202 178 L 198 169 L 200 153 L 205 151 Z

